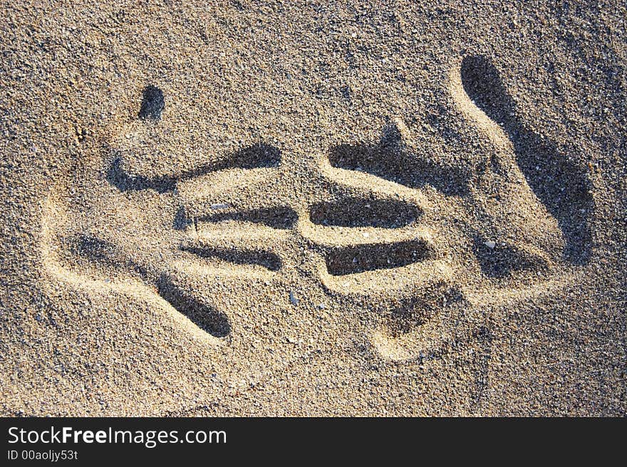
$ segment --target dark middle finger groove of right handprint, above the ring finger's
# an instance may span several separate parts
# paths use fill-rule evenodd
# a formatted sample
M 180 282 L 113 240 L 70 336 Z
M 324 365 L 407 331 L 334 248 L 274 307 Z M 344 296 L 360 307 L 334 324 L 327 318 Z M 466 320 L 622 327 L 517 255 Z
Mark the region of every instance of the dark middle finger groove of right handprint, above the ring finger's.
M 413 224 L 422 210 L 407 201 L 346 196 L 311 206 L 309 219 L 322 226 L 396 229 Z

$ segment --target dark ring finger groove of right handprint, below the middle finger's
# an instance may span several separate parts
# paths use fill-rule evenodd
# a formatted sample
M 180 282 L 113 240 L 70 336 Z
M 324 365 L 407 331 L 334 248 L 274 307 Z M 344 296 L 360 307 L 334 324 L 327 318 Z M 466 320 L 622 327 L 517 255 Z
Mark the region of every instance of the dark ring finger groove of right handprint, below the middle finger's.
M 345 276 L 376 269 L 399 268 L 425 261 L 429 253 L 430 248 L 423 240 L 333 248 L 326 254 L 326 269 L 331 276 Z

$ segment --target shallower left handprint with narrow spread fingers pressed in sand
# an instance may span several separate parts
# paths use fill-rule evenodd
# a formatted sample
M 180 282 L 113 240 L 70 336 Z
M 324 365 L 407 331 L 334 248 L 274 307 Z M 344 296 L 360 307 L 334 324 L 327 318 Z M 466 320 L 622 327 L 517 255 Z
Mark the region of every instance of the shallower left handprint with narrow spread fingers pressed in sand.
M 229 317 L 201 291 L 210 278 L 237 275 L 237 265 L 252 266 L 244 276 L 261 279 L 281 267 L 273 241 L 296 219 L 290 209 L 264 202 L 272 199 L 278 150 L 252 145 L 155 178 L 126 169 L 123 150 L 106 147 L 105 153 L 104 169 L 83 167 L 71 181 L 71 195 L 58 190 L 49 196 L 48 267 L 73 283 L 154 294 L 209 335 L 228 337 Z M 249 200 L 252 193 L 258 201 Z M 238 209 L 243 201 L 247 209 Z M 86 221 L 93 216 L 83 214 L 92 209 L 106 221 Z

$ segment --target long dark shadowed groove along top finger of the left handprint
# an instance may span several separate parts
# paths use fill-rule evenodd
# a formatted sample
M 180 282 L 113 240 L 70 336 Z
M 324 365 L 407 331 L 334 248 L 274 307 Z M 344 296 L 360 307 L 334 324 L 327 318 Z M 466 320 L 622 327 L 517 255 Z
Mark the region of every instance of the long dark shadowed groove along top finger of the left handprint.
M 115 152 L 107 174 L 107 181 L 120 191 L 138 191 L 153 189 L 159 193 L 173 191 L 177 182 L 211 172 L 224 169 L 260 169 L 266 167 L 278 167 L 281 162 L 281 151 L 271 145 L 259 143 L 244 149 L 240 149 L 228 157 L 204 164 L 193 170 L 188 170 L 178 174 L 176 177 L 145 177 L 143 175 L 133 175 L 125 171 L 123 159 L 119 152 Z

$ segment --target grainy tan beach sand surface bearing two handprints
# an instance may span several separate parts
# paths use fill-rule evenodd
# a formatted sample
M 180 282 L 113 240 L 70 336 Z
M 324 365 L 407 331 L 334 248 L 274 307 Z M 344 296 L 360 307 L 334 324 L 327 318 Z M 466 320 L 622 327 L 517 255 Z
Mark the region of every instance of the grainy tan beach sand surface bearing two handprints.
M 621 2 L 1 12 L 0 414 L 626 414 Z

